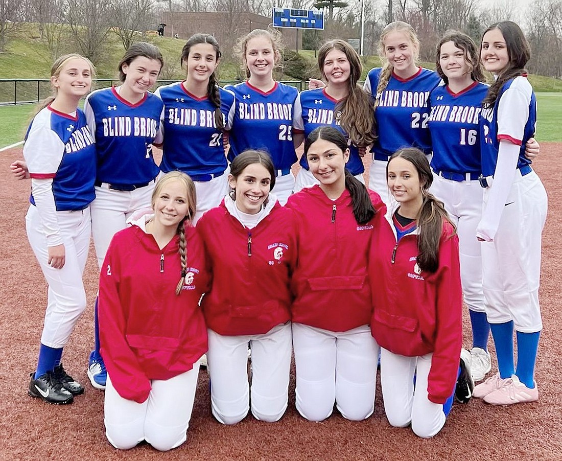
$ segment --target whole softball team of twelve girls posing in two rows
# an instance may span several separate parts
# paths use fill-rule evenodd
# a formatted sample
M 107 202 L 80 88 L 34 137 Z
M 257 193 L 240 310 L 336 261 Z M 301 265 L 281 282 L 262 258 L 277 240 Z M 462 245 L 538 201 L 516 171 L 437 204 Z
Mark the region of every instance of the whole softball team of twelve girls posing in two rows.
M 217 421 L 279 421 L 293 356 L 309 421 L 334 406 L 369 418 L 378 369 L 389 424 L 424 438 L 454 400 L 537 400 L 547 196 L 531 166 L 527 40 L 511 21 L 479 45 L 448 31 L 433 71 L 418 65 L 412 26 L 395 21 L 379 48 L 383 65 L 361 87 L 355 49 L 324 43 L 323 78 L 300 93 L 273 78 L 274 30 L 238 40 L 247 80 L 224 88 L 207 34 L 183 47 L 185 80 L 154 93 L 164 60 L 153 44 L 130 46 L 120 84 L 93 92 L 87 58 L 58 58 L 53 96 L 11 165 L 30 179 L 26 230 L 48 286 L 28 394 L 51 404 L 83 394 L 62 355 L 88 308 L 87 374 L 105 390 L 118 449 L 183 444 L 204 367 Z M 88 306 L 90 234 L 99 291 Z

